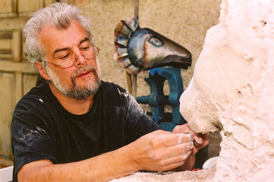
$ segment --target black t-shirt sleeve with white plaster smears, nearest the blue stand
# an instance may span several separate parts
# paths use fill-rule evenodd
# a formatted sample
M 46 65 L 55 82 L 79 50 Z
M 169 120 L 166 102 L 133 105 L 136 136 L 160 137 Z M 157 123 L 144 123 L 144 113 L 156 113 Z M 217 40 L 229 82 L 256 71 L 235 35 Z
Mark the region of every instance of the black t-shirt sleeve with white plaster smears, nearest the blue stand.
M 161 129 L 128 92 L 122 92 L 121 90 L 120 92 L 125 101 L 126 138 L 128 143 L 139 139 L 149 132 Z

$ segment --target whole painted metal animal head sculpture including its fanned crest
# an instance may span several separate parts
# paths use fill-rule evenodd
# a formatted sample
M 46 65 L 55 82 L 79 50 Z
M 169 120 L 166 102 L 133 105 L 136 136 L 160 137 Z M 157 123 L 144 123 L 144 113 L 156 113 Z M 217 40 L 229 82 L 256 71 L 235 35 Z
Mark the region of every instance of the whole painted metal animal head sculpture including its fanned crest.
M 140 28 L 135 18 L 120 21 L 114 35 L 114 60 L 128 73 L 163 66 L 182 69 L 191 66 L 191 53 L 187 49 L 149 28 Z

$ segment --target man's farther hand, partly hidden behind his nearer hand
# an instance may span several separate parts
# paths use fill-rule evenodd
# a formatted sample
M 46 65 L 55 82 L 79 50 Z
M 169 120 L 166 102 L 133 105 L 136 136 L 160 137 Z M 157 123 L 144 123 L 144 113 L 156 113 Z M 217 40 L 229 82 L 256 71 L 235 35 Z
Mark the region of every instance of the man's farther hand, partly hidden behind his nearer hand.
M 194 130 L 192 130 L 188 123 L 183 125 L 177 125 L 173 131 L 173 133 L 192 133 L 194 134 L 194 148 L 192 150 L 193 154 L 196 154 L 199 149 L 204 148 L 208 145 L 210 140 L 210 134 L 209 133 L 197 133 Z

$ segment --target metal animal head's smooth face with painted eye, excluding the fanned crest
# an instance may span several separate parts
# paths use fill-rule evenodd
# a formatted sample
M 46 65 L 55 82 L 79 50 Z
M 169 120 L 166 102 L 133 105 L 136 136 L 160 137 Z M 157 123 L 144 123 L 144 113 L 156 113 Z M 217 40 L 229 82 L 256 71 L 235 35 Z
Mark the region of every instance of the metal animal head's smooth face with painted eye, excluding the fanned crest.
M 186 48 L 149 28 L 133 33 L 127 53 L 131 62 L 144 70 L 162 66 L 188 69 L 192 61 Z

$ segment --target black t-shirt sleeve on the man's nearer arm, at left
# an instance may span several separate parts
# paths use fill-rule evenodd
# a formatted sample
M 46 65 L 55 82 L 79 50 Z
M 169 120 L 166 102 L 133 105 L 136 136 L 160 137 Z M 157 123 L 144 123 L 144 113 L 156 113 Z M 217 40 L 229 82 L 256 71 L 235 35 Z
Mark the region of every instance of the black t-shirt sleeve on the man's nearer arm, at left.
M 39 116 L 17 113 L 13 117 L 12 146 L 14 153 L 14 180 L 20 168 L 33 161 L 49 159 L 56 163 L 54 139 L 48 125 Z

